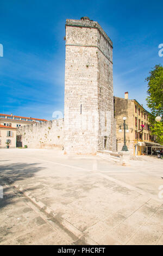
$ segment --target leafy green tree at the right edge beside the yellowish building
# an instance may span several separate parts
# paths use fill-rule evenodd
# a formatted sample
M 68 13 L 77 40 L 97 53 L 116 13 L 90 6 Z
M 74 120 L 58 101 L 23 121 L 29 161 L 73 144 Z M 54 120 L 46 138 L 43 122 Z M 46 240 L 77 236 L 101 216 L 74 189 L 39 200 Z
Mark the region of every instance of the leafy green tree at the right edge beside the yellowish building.
M 146 78 L 148 82 L 147 106 L 151 109 L 149 123 L 152 135 L 156 135 L 156 141 L 163 144 L 163 66 L 155 65 Z M 155 117 L 161 117 L 158 123 Z

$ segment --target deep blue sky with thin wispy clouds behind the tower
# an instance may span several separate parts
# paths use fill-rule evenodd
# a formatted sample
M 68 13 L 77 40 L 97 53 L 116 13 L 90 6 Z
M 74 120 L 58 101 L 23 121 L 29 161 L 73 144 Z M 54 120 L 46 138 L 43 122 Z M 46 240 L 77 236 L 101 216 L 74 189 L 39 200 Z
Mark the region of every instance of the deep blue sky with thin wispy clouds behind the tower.
M 145 78 L 163 64 L 160 0 L 0 0 L 0 113 L 52 119 L 64 112 L 65 21 L 89 16 L 113 41 L 114 95 L 146 107 Z

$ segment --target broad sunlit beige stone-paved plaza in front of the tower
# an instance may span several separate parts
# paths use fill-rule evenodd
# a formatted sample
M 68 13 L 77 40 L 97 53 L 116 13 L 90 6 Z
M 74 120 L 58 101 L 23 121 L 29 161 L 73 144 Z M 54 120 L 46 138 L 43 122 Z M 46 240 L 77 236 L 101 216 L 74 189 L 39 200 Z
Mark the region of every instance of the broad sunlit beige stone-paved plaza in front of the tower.
M 162 166 L 1 149 L 0 244 L 163 245 Z

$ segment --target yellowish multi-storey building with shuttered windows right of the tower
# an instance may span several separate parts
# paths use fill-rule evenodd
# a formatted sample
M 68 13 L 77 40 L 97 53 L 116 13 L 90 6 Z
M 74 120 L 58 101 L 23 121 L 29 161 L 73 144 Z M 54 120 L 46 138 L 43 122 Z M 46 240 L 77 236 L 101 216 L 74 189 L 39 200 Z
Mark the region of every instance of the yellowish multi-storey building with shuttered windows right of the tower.
M 116 118 L 117 151 L 123 147 L 123 132 L 118 132 L 123 127 L 123 117 L 126 117 L 128 133 L 126 144 L 132 155 L 151 154 L 152 147 L 157 145 L 151 135 L 148 124 L 149 112 L 136 100 L 128 99 L 128 92 L 124 99 L 114 97 L 114 116 Z

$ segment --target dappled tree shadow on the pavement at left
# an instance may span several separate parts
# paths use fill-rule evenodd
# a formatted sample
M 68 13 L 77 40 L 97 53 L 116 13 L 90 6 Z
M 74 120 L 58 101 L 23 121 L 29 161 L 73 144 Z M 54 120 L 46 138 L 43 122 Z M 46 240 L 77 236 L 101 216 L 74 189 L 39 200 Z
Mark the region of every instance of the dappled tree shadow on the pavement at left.
M 14 182 L 32 178 L 43 167 L 37 166 L 40 163 L 12 163 L 12 165 L 4 164 L 0 166 L 0 210 L 6 208 L 9 204 L 14 205 L 22 193 L 14 187 Z M 3 188 L 3 191 L 2 191 Z M 35 188 L 28 188 L 28 191 L 32 191 Z M 22 192 L 25 192 L 24 189 Z M 2 197 L 3 192 L 3 198 Z M 4 209 L 3 209 L 4 210 Z

